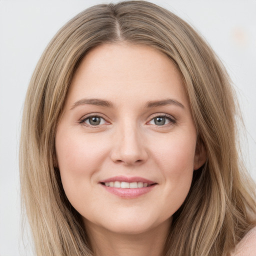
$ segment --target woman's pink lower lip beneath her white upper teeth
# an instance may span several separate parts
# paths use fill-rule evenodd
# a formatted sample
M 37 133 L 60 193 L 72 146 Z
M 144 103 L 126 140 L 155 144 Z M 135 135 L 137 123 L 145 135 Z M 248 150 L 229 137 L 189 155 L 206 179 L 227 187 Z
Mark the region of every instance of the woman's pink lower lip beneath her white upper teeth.
M 140 187 L 140 188 L 121 188 L 121 187 L 110 187 L 101 184 L 108 192 L 115 194 L 122 198 L 136 198 L 140 195 L 150 192 L 156 184 Z

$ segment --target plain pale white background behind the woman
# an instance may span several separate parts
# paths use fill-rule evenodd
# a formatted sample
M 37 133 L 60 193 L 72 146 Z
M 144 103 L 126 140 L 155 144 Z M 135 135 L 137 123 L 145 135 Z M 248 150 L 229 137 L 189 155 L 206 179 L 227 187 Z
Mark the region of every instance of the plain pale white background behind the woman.
M 110 1 L 103 1 L 110 2 Z M 192 24 L 226 66 L 238 94 L 246 165 L 256 180 L 256 0 L 154 0 Z M 71 17 L 100 0 L 0 0 L 0 256 L 33 255 L 21 242 L 18 140 L 39 56 Z

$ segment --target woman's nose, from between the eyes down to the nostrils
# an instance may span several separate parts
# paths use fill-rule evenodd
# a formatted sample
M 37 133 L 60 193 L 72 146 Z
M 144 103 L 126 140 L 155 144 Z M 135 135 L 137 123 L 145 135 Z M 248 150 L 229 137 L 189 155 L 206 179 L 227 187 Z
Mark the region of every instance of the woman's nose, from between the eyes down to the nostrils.
M 115 132 L 110 158 L 115 163 L 139 165 L 148 158 L 146 143 L 136 124 L 122 125 Z

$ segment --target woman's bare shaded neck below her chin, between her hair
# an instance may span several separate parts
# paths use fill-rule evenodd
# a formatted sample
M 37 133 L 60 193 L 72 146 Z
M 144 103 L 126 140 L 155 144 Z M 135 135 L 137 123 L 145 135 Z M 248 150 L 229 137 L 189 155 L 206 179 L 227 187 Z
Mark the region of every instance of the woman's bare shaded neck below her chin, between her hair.
M 170 220 L 146 232 L 136 234 L 115 233 L 86 221 L 95 256 L 162 256 Z

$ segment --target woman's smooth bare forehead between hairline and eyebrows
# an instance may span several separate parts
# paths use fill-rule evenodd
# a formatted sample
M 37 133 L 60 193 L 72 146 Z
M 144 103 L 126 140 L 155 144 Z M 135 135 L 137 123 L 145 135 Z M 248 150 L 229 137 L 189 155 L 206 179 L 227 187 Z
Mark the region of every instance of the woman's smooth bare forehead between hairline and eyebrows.
M 137 94 L 141 101 L 159 100 L 166 93 L 187 103 L 181 74 L 165 54 L 145 45 L 108 43 L 93 48 L 82 59 L 68 100 L 82 96 L 135 100 Z

